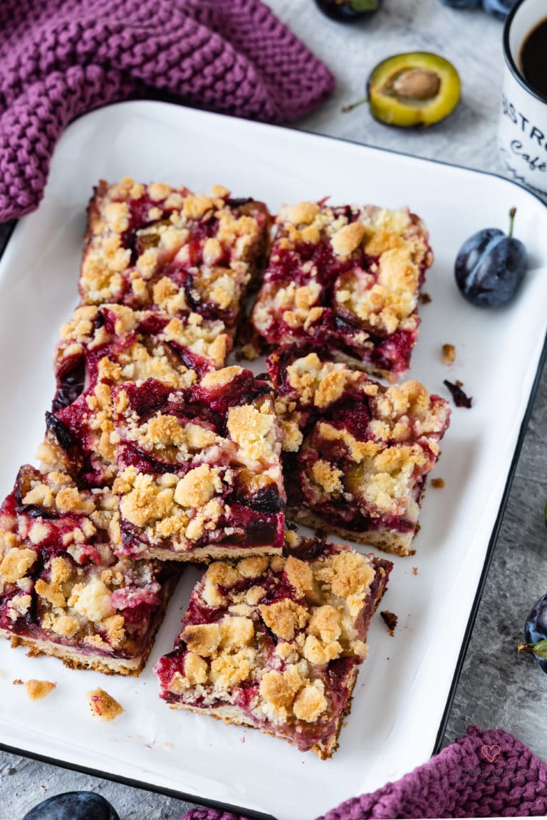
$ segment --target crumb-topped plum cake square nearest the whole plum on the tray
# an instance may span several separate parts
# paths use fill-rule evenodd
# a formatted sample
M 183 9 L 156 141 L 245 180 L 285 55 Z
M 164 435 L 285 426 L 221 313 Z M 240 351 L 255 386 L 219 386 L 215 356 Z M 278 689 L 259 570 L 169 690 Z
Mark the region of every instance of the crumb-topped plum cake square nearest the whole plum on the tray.
M 308 344 L 336 361 L 397 380 L 417 341 L 417 301 L 432 254 L 408 210 L 283 207 L 245 352 Z M 263 347 L 262 343 L 262 347 Z

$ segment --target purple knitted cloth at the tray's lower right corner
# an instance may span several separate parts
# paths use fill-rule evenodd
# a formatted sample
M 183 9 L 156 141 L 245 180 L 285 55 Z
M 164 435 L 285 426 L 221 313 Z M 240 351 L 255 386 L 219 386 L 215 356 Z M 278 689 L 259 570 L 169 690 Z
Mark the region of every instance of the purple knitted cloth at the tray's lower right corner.
M 539 817 L 547 813 L 547 765 L 503 729 L 467 729 L 397 783 L 346 800 L 321 820 Z M 245 820 L 191 809 L 181 820 Z

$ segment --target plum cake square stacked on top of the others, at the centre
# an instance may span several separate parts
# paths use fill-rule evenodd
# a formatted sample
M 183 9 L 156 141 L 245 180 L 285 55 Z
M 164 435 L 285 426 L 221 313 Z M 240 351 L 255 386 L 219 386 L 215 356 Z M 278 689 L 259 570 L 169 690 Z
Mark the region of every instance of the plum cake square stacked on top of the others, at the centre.
M 285 490 L 271 385 L 242 367 L 114 390 L 123 549 L 180 561 L 275 554 Z

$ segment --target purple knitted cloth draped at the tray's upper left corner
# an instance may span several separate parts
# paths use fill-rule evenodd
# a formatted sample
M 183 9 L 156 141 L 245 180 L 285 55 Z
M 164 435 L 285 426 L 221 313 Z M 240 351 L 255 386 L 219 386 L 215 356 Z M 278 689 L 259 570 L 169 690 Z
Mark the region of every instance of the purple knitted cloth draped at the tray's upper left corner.
M 38 206 L 53 148 L 93 108 L 169 95 L 282 122 L 330 72 L 260 0 L 1 0 L 0 221 Z

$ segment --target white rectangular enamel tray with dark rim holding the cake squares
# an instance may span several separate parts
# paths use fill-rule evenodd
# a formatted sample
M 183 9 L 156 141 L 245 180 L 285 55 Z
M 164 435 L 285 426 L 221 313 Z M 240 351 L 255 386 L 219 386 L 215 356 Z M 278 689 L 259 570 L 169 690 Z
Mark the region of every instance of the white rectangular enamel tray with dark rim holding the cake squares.
M 281 740 L 209 717 L 171 711 L 152 672 L 170 651 L 189 590 L 186 572 L 153 654 L 138 679 L 74 672 L 52 658 L 27 658 L 0 645 L 2 744 L 104 772 L 107 777 L 232 804 L 279 820 L 310 820 L 353 795 L 376 789 L 426 761 L 449 696 L 473 600 L 533 389 L 547 322 L 547 209 L 495 176 L 386 153 L 294 130 L 164 103 L 121 103 L 84 116 L 52 160 L 45 198 L 26 216 L 0 262 L 0 492 L 34 460 L 53 394 L 52 349 L 77 300 L 84 211 L 100 178 L 131 175 L 235 197 L 284 202 L 408 205 L 431 230 L 435 264 L 422 306 L 412 378 L 448 398 L 460 379 L 472 409 L 454 409 L 422 508 L 417 554 L 396 558 L 383 607 L 399 616 L 390 637 L 380 617 L 369 634 L 353 709 L 330 761 Z M 468 305 L 454 284 L 454 257 L 467 236 L 508 225 L 528 248 L 530 270 L 508 307 Z M 444 343 L 456 362 L 441 361 Z M 417 574 L 413 574 L 417 567 Z M 15 678 L 57 681 L 30 703 Z M 109 724 L 91 717 L 85 692 L 103 686 L 125 708 Z

